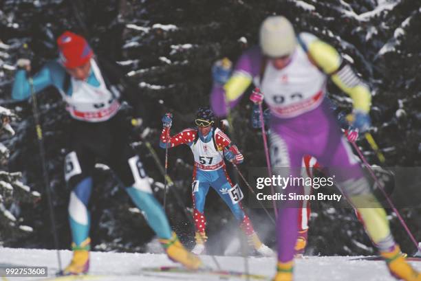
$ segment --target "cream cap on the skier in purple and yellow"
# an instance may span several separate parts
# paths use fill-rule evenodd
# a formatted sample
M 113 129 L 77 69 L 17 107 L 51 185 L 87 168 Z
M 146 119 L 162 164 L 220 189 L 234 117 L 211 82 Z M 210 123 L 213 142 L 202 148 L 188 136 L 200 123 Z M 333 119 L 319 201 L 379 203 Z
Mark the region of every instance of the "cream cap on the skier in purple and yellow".
M 294 52 L 294 27 L 285 16 L 269 16 L 260 27 L 260 47 L 266 56 L 277 58 Z

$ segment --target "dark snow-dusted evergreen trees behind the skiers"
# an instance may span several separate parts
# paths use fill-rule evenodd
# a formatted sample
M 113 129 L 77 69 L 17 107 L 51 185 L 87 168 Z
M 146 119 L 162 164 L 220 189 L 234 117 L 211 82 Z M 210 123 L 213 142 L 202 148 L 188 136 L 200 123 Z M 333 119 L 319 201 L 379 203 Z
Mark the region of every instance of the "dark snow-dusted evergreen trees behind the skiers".
M 147 142 L 163 162 L 158 147 L 160 118 L 174 114 L 173 133 L 193 126 L 199 106 L 208 104 L 211 87 L 210 68 L 219 58 L 236 60 L 247 47 L 257 43 L 259 25 L 270 14 L 283 14 L 297 32 L 312 32 L 334 45 L 345 60 L 370 85 L 373 93 L 371 133 L 387 159 L 385 166 L 421 166 L 421 3 L 415 0 L 326 0 L 326 1 L 252 1 L 252 0 L 43 0 L 0 1 L 0 98 L 1 105 L 13 109 L 19 120 L 13 126 L 14 137 L 3 137 L 11 151 L 8 171 L 23 172 L 23 181 L 41 192 L 41 201 L 14 204 L 13 212 L 30 225 L 33 232 L 8 229 L 3 223 L 0 240 L 8 247 L 52 248 L 53 240 L 43 192 L 43 178 L 36 142 L 34 119 L 28 101 L 10 100 L 13 66 L 23 54 L 26 43 L 32 52 L 32 67 L 39 69 L 57 56 L 55 38 L 64 30 L 83 34 L 98 56 L 118 62 L 127 79 L 138 87 L 139 95 L 155 102 L 147 115 L 151 133 L 145 139 L 133 134 L 133 146 L 140 153 L 153 179 L 155 195 L 162 202 L 163 177 Z M 351 109 L 350 99 L 334 85 L 330 98 L 344 111 Z M 248 95 L 248 94 L 246 94 Z M 60 247 L 71 243 L 67 223 L 69 190 L 63 179 L 63 157 L 69 116 L 56 89 L 39 95 L 41 121 L 45 134 L 47 168 L 53 194 Z M 250 127 L 251 104 L 248 98 L 233 111 L 235 133 L 231 137 L 244 154 L 241 170 L 263 167 L 261 133 Z M 379 164 L 365 139 L 358 146 L 371 164 Z M 182 241 L 193 246 L 191 216 L 192 161 L 187 147 L 170 150 L 169 175 L 174 186 L 169 190 L 166 209 L 173 229 Z M 129 197 L 119 188 L 112 173 L 100 167 L 96 171 L 91 197 L 91 238 L 93 249 L 147 251 L 153 232 Z M 399 186 L 396 186 L 399 188 Z M 244 193 L 246 188 L 243 187 Z M 413 194 L 408 194 L 413 196 Z M 247 199 L 244 201 L 247 206 Z M 421 239 L 420 207 L 401 210 L 415 238 Z M 8 205 L 10 207 L 10 204 Z M 369 238 L 352 209 L 314 206 L 310 220 L 307 254 L 373 254 Z M 210 253 L 222 254 L 239 232 L 228 207 L 215 192 L 206 201 Z M 274 247 L 274 227 L 259 209 L 248 210 L 255 229 Z M 402 249 L 414 247 L 389 212 L 393 234 Z M 0 214 L 1 216 L 1 214 Z M 0 222 L 2 220 L 0 219 Z M 3 220 L 4 222 L 4 220 Z

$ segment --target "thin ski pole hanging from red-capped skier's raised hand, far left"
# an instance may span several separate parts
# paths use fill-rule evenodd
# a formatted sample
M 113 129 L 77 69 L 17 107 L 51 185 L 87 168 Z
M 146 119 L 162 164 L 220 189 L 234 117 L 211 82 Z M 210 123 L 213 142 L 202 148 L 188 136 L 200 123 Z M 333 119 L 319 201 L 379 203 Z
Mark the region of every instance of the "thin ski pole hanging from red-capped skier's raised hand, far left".
M 52 232 L 53 232 L 53 237 L 54 237 L 54 246 L 56 247 L 56 252 L 57 252 L 58 272 L 61 272 L 61 256 L 60 256 L 60 251 L 58 250 L 56 218 L 54 216 L 54 208 L 53 208 L 52 196 L 50 192 L 50 179 L 48 178 L 47 165 L 46 165 L 46 159 L 45 159 L 43 131 L 41 128 L 41 122 L 39 121 L 38 105 L 36 103 L 36 95 L 34 92 L 34 80 L 32 80 L 32 77 L 29 78 L 29 83 L 30 83 L 30 91 L 31 91 L 31 96 L 32 96 L 32 111 L 34 112 L 36 137 L 38 139 L 39 154 L 41 156 L 41 167 L 43 168 L 44 189 L 45 189 L 45 193 L 47 194 L 48 209 L 50 211 L 50 221 L 51 221 Z

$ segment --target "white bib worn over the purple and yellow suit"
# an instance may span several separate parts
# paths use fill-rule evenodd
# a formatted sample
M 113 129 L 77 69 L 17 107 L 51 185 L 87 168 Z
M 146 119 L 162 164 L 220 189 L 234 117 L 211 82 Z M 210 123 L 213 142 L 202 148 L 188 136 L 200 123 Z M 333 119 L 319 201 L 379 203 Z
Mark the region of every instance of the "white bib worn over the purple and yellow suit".
M 283 69 L 275 69 L 268 61 L 260 88 L 271 113 L 290 118 L 321 104 L 326 80 L 327 76 L 310 62 L 303 48 L 298 46 L 290 64 Z

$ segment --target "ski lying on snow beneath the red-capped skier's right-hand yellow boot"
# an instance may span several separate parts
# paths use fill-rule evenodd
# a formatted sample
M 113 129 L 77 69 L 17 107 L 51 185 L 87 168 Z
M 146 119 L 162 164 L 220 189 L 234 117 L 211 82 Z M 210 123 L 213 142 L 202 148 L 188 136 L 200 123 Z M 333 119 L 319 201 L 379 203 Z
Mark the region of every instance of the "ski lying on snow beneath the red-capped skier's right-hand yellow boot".
M 217 276 L 219 278 L 241 278 L 246 280 L 270 280 L 268 276 L 259 274 L 244 273 L 241 271 L 232 270 L 217 270 L 217 269 L 185 269 L 184 267 L 144 267 L 142 271 L 153 272 L 153 273 L 186 273 L 186 274 L 208 274 L 211 276 Z

